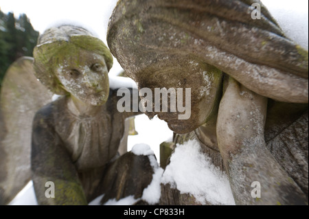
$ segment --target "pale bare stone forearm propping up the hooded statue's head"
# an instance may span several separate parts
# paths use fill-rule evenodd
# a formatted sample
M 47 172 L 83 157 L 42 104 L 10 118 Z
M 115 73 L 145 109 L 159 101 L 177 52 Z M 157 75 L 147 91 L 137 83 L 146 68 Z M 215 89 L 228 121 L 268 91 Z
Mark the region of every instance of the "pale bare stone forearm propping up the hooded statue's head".
M 301 189 L 266 148 L 266 97 L 232 78 L 225 85 L 218 112 L 217 137 L 236 203 L 306 205 Z M 260 196 L 256 190 L 259 187 L 253 185 L 260 187 Z

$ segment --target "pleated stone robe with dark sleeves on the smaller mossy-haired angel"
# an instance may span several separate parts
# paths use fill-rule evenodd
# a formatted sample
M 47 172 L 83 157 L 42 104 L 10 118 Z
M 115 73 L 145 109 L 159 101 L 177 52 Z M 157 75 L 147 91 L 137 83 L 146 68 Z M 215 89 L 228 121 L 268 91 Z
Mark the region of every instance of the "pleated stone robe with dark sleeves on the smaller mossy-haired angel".
M 117 158 L 124 121 L 139 113 L 119 113 L 116 91 L 108 101 L 82 115 L 70 97 L 47 104 L 36 113 L 32 133 L 32 178 L 39 204 L 87 204 L 95 198 L 106 164 Z M 56 198 L 45 198 L 53 181 Z M 84 197 L 86 196 L 86 197 Z

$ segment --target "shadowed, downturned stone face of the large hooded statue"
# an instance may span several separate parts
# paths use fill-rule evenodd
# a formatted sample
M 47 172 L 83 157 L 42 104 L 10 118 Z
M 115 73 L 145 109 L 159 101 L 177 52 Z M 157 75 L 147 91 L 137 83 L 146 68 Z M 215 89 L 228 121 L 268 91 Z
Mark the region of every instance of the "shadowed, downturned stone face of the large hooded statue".
M 130 73 L 130 77 L 138 82 L 139 89 L 149 88 L 155 93 L 156 88 L 179 89 L 183 90 L 182 100 L 177 93 L 177 108 L 180 105 L 185 107 L 187 113 L 188 105 L 190 108 L 190 117 L 187 119 L 179 119 L 179 111 L 171 112 L 146 112 L 148 117 L 158 115 L 159 119 L 168 123 L 171 130 L 176 133 L 184 134 L 195 130 L 199 126 L 205 124 L 211 112 L 218 105 L 218 97 L 220 95 L 220 84 L 222 81 L 222 73 L 219 69 L 196 60 L 183 60 L 178 66 L 170 64 L 170 62 L 161 62 L 160 69 L 154 68 L 144 69 L 139 73 Z M 186 93 L 190 89 L 190 93 Z M 188 98 L 190 95 L 190 99 Z M 141 97 L 142 99 L 144 97 Z M 155 100 L 155 97 L 152 98 Z M 190 100 L 187 102 L 187 100 Z M 170 100 L 168 100 L 170 101 Z M 182 101 L 182 102 L 181 102 Z M 162 102 L 161 102 L 162 104 Z M 168 107 L 172 107 L 168 102 Z M 162 108 L 162 105 L 160 106 Z

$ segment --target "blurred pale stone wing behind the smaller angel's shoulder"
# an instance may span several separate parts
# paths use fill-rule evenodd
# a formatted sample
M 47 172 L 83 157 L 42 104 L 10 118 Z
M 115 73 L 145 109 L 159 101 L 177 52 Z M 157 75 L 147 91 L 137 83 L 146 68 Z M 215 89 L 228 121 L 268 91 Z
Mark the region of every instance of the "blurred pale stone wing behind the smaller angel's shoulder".
M 3 80 L 0 99 L 0 205 L 7 204 L 30 181 L 32 119 L 52 100 L 36 80 L 33 58 L 16 60 Z

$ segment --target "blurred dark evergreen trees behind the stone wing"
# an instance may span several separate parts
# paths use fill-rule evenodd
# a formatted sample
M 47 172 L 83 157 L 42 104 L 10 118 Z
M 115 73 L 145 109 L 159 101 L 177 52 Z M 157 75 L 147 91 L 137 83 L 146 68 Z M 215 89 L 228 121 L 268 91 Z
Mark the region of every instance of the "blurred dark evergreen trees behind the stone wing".
M 0 10 L 0 87 L 5 71 L 21 56 L 32 56 L 38 32 L 33 29 L 27 15 L 4 14 Z

